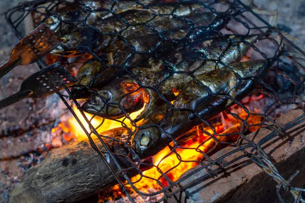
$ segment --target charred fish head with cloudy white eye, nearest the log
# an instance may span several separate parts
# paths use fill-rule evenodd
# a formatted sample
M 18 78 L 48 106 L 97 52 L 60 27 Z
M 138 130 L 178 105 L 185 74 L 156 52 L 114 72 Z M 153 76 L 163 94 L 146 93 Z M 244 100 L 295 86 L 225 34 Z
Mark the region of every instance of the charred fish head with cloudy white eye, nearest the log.
M 161 150 L 160 138 L 161 132 L 156 126 L 139 129 L 133 139 L 133 149 L 137 153 L 134 159 L 145 159 L 158 153 Z

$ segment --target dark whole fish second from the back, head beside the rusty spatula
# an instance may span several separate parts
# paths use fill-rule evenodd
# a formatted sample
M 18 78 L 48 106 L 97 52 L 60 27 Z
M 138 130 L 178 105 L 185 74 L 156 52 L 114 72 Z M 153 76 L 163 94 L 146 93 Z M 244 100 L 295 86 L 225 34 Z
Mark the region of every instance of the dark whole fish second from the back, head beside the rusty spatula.
M 183 12 L 184 13 L 184 12 Z M 236 12 L 237 14 L 238 12 Z M 154 16 L 151 10 L 127 10 L 120 13 L 119 15 L 114 15 L 106 20 L 100 20 L 93 27 L 84 27 L 76 29 L 75 31 L 69 32 L 62 36 L 63 44 L 62 46 L 55 49 L 52 53 L 56 55 L 75 57 L 77 52 L 81 54 L 79 47 L 86 45 L 88 42 L 89 48 L 92 48 L 92 43 L 88 41 L 88 36 L 95 36 L 92 41 L 95 43 L 94 53 L 99 55 L 101 52 L 109 53 L 109 59 L 113 56 L 113 49 L 118 50 L 120 48 L 122 52 L 132 52 L 133 47 L 137 47 L 138 51 L 141 49 L 150 48 L 146 44 L 145 40 L 151 38 L 155 41 L 155 44 L 160 44 L 161 40 L 181 40 L 184 37 L 189 39 L 194 39 L 202 33 L 208 34 L 209 27 L 213 30 L 221 29 L 227 22 L 229 18 L 224 15 L 224 13 L 219 13 L 218 15 L 212 12 L 199 12 L 194 10 L 192 13 L 184 16 L 172 17 L 171 15 L 161 15 Z M 190 25 L 189 22 L 192 24 Z M 192 28 L 196 27 L 195 29 Z M 86 33 L 86 34 L 83 34 Z M 97 36 L 99 37 L 97 39 Z M 124 39 L 119 39 L 120 37 Z M 92 37 L 91 37 L 92 38 Z M 114 42 L 117 41 L 117 42 Z M 105 50 L 112 42 L 114 42 L 110 50 Z M 127 42 L 130 42 L 128 44 Z M 74 48 L 74 51 L 71 49 Z M 67 49 L 69 51 L 67 51 Z M 72 52 L 72 53 L 71 53 Z M 116 55 L 121 55 L 116 53 Z M 125 55 L 122 55 L 118 61 L 124 61 Z M 111 60 L 113 61 L 113 60 Z M 115 59 L 114 59 L 115 62 Z

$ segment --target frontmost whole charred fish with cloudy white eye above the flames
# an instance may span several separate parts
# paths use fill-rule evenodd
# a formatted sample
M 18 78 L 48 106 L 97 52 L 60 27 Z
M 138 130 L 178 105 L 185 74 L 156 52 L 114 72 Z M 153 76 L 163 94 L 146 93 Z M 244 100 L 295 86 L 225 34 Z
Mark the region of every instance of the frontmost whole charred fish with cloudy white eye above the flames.
M 190 81 L 173 104 L 173 107 L 180 110 L 164 112 L 163 115 L 166 116 L 155 123 L 150 120 L 143 123 L 145 126 L 159 126 L 162 129 L 151 135 L 155 136 L 153 139 L 157 138 L 156 145 L 140 144 L 142 137 L 147 132 L 151 133 L 150 127 L 139 129 L 136 133 L 133 146 L 140 158 L 153 156 L 154 152 L 161 150 L 172 141 L 170 137 L 175 139 L 200 124 L 201 119 L 206 120 L 223 111 L 233 103 L 229 98 L 241 100 L 256 87 L 255 78 L 261 76 L 268 65 L 267 60 L 235 63 L 229 70 L 222 68 L 202 74 L 199 77 L 200 82 Z M 194 112 L 200 116 L 200 119 L 194 116 Z

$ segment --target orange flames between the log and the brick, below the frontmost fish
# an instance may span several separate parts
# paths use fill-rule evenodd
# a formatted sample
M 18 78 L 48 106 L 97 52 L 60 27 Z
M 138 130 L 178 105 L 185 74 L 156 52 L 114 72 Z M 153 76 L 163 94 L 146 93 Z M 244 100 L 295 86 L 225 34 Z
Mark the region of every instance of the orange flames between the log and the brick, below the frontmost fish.
M 240 111 L 238 114 L 242 119 L 247 118 L 248 113 L 246 113 L 242 109 L 238 109 L 238 111 Z M 250 115 L 250 117 L 247 119 L 247 122 L 249 123 L 249 125 L 255 125 L 261 123 L 261 119 L 262 118 L 259 115 Z M 203 128 L 204 131 L 208 132 L 208 133 L 203 133 L 202 130 L 200 129 L 200 126 L 196 126 L 193 129 L 191 129 L 189 132 L 187 132 L 185 135 L 183 135 L 181 137 L 182 139 L 181 138 L 178 139 L 180 148 L 177 148 L 175 150 L 176 153 L 172 153 L 169 147 L 166 147 L 163 150 L 161 150 L 158 154 L 153 156 L 152 160 L 153 160 L 153 165 L 155 167 L 143 172 L 144 176 L 150 178 L 141 177 L 140 175 L 135 176 L 132 178 L 132 181 L 133 182 L 137 182 L 139 180 L 140 181 L 134 185 L 139 190 L 148 193 L 151 190 L 151 188 L 159 190 L 161 189 L 161 186 L 162 187 L 167 186 L 168 182 L 164 179 L 164 177 L 159 172 L 159 170 L 163 174 L 165 174 L 170 181 L 174 182 L 178 180 L 183 173 L 185 173 L 189 169 L 194 168 L 196 165 L 199 164 L 199 161 L 201 161 L 204 158 L 203 153 L 209 152 L 211 149 L 213 149 L 216 146 L 216 142 L 212 138 L 213 135 L 215 135 L 215 138 L 219 142 L 231 142 L 231 143 L 235 142 L 239 136 L 238 133 L 242 128 L 241 121 L 234 118 L 232 115 L 227 115 L 226 121 L 228 121 L 226 124 L 228 125 L 228 123 L 231 123 L 231 126 L 225 129 L 223 122 L 217 123 L 214 126 L 215 132 L 217 134 L 236 133 L 235 135 L 216 136 L 211 127 Z M 249 131 L 252 132 L 258 128 L 259 126 L 252 126 L 249 128 Z M 171 146 L 173 146 L 173 143 L 171 143 Z M 161 185 L 159 185 L 157 181 L 152 179 L 158 180 L 161 183 Z M 118 186 L 114 187 L 113 189 L 118 189 Z

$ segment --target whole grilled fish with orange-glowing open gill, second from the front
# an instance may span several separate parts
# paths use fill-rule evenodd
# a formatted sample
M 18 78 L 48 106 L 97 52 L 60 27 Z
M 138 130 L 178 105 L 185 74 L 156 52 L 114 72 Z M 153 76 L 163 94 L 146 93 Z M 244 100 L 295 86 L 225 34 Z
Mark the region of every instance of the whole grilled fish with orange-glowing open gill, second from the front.
M 169 52 L 168 55 L 160 56 L 158 60 L 150 60 L 146 65 L 142 67 L 133 68 L 133 76 L 126 75 L 122 77 L 120 81 L 129 81 L 130 83 L 134 84 L 137 84 L 137 81 L 140 81 L 143 86 L 156 87 L 159 93 L 166 100 L 173 101 L 176 98 L 174 91 L 181 91 L 184 87 L 186 87 L 187 83 L 192 80 L 192 77 L 188 75 L 189 72 L 193 72 L 194 76 L 198 76 L 205 72 L 223 67 L 222 64 L 216 63 L 214 61 L 207 61 L 206 59 L 220 59 L 225 65 L 237 62 L 251 47 L 244 42 L 253 44 L 258 40 L 258 38 L 259 35 L 228 35 L 220 38 L 215 38 L 213 43 L 209 42 L 209 45 L 205 47 L 205 49 L 200 49 L 199 52 L 194 51 L 190 47 L 178 48 L 175 51 Z M 228 39 L 231 41 L 228 41 Z M 221 50 L 226 51 L 222 53 L 223 51 Z M 164 66 L 167 67 L 165 68 Z M 80 74 L 81 73 L 82 72 L 80 72 Z M 82 80 L 80 78 L 78 79 L 80 80 L 80 83 L 82 83 Z M 94 85 L 91 85 L 90 87 L 94 87 Z M 115 118 L 124 116 L 122 108 L 119 108 L 118 101 L 128 93 L 121 91 L 120 94 L 118 94 L 115 92 L 116 90 L 120 89 L 120 87 L 121 84 L 118 83 L 118 80 L 115 80 L 110 82 L 110 85 L 104 86 L 102 88 L 93 88 L 99 91 L 107 91 L 112 95 L 109 102 L 112 103 L 111 106 L 113 112 L 116 112 L 114 115 Z M 130 113 L 140 110 L 143 105 L 146 105 L 145 110 L 138 116 L 136 120 L 141 120 L 145 117 L 148 117 L 149 114 L 152 113 L 154 109 L 163 102 L 159 98 L 159 95 L 155 93 L 155 91 L 152 91 L 148 88 L 143 88 L 143 92 L 141 92 L 141 94 L 140 92 L 139 94 L 134 94 L 134 97 L 137 97 L 137 100 L 134 101 L 137 101 L 138 108 L 125 108 L 124 110 L 126 112 Z M 147 97 L 150 98 L 149 101 L 147 101 Z M 99 111 L 93 110 L 100 109 L 101 106 L 105 105 L 103 101 L 97 98 L 99 98 L 98 95 L 93 95 L 92 98 L 82 106 L 84 111 L 94 113 L 101 117 L 111 118 L 112 111 L 107 111 L 106 113 L 106 108 Z M 117 103 L 117 106 L 115 106 L 114 103 Z M 142 105 L 140 105 L 141 103 Z M 90 106 L 90 109 L 88 109 L 88 106 Z M 95 106 L 95 108 L 92 108 L 92 106 Z M 136 104 L 132 106 L 136 106 Z M 116 110 L 114 110 L 115 108 Z M 119 112 L 121 112 L 121 114 Z

